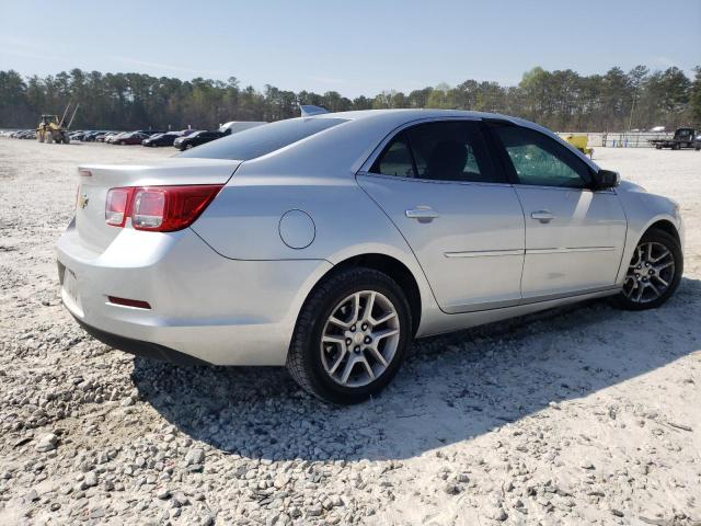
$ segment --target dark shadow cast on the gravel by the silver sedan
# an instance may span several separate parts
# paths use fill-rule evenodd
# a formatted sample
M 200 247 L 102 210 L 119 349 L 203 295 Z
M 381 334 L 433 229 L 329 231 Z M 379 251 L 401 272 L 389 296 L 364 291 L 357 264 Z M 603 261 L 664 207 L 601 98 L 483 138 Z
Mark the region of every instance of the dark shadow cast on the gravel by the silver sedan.
M 701 282 L 660 309 L 607 301 L 422 340 L 392 385 L 333 407 L 284 368 L 176 367 L 135 358 L 141 399 L 168 422 L 249 458 L 401 459 L 516 422 L 663 367 L 701 347 Z

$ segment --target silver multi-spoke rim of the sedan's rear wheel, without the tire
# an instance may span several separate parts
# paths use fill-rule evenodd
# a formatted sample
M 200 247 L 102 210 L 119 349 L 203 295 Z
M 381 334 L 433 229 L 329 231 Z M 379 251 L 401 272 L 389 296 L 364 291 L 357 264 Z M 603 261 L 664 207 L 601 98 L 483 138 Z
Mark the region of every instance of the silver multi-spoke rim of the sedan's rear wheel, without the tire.
M 371 384 L 388 369 L 400 340 L 397 309 L 376 290 L 354 293 L 331 311 L 321 336 L 321 362 L 344 387 Z

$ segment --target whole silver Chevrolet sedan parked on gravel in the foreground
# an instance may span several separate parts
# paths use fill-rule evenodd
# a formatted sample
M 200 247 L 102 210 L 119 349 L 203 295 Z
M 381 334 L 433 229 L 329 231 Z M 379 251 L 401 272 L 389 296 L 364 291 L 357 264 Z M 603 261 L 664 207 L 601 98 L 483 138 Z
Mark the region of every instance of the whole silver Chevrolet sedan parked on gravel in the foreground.
M 605 296 L 655 308 L 682 273 L 676 203 L 495 114 L 326 113 L 79 174 L 58 267 L 88 332 L 286 365 L 336 403 L 387 386 L 414 338 Z

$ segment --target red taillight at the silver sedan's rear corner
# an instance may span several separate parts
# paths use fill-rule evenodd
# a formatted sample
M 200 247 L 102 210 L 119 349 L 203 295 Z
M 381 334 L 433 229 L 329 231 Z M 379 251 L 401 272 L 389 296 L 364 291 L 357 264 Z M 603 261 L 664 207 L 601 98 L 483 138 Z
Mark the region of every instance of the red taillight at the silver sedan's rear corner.
M 137 230 L 182 230 L 199 217 L 222 187 L 222 184 L 205 184 L 112 188 L 107 193 L 105 220 L 107 225 L 124 227 L 126 218 L 131 217 L 131 226 Z M 119 210 L 122 222 L 112 222 L 111 211 L 116 220 Z

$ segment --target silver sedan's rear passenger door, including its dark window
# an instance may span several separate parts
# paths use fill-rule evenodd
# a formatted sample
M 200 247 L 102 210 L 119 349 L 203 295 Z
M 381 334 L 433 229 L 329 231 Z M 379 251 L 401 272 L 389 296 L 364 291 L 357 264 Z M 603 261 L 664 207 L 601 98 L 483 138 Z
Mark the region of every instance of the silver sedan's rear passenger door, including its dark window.
M 357 180 L 413 249 L 443 310 L 518 302 L 524 214 L 481 122 L 407 127 Z

